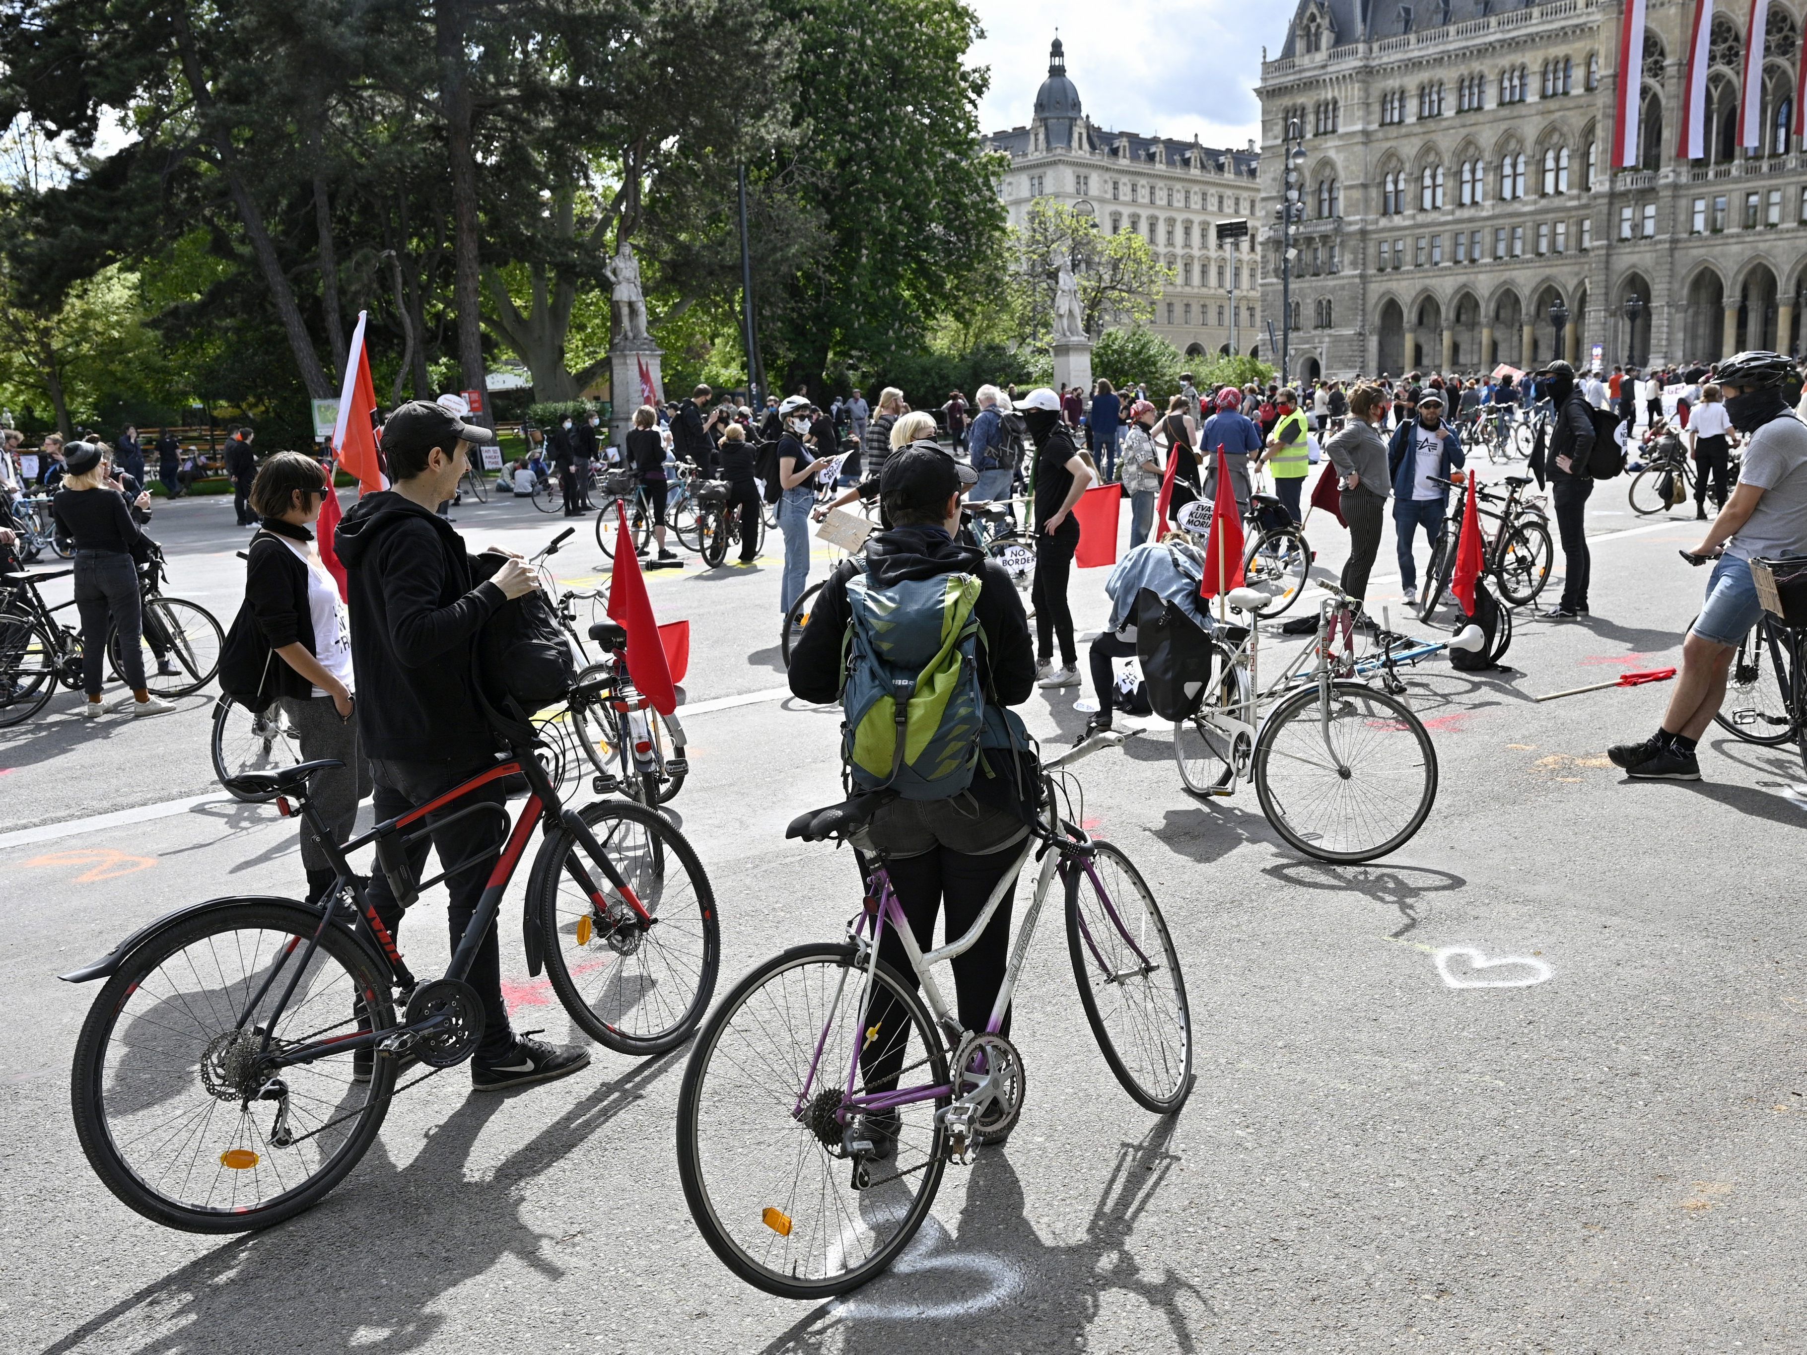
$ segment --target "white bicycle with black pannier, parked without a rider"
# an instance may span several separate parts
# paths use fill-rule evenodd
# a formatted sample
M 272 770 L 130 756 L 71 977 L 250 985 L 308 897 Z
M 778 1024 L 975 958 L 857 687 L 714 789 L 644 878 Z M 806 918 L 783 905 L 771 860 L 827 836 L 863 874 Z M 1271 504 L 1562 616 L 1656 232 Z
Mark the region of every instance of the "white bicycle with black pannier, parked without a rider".
M 1202 800 L 1234 795 L 1243 777 L 1252 779 L 1261 813 L 1296 851 L 1368 862 L 1402 847 L 1429 817 L 1437 750 L 1395 692 L 1359 681 L 1357 605 L 1334 584 L 1323 587 L 1332 596 L 1319 603 L 1314 641 L 1265 692 L 1258 690 L 1261 627 L 1218 627 L 1218 678 L 1207 678 L 1200 706 L 1175 721 L 1173 759 L 1182 786 Z M 1263 600 L 1247 587 L 1225 596 L 1249 614 Z M 1456 640 L 1476 649 L 1480 627 Z

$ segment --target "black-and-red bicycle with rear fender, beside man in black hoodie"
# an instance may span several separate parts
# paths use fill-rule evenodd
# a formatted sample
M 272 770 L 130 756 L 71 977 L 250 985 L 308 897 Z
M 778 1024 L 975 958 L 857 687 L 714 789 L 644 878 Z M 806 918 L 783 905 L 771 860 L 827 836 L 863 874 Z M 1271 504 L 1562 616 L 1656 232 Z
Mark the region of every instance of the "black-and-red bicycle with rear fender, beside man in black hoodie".
M 528 970 L 544 968 L 571 1019 L 620 1053 L 681 1044 L 708 1006 L 719 938 L 708 876 L 683 835 L 638 804 L 567 808 L 531 746 L 343 847 L 309 779 L 334 761 L 235 777 L 231 790 L 300 813 L 336 878 L 318 903 L 215 898 L 177 909 L 112 954 L 63 974 L 107 979 L 70 1073 L 76 1135 L 130 1209 L 186 1232 L 244 1232 L 318 1203 L 370 1147 L 390 1098 L 468 1061 L 482 1003 L 466 983 L 479 939 L 535 827 L 544 838 L 524 900 Z M 502 777 L 529 793 L 446 974 L 416 981 L 347 853 L 376 846 L 396 900 L 419 882 L 407 847 L 434 827 L 508 811 L 479 802 Z M 479 853 L 477 858 L 488 853 Z M 396 1006 L 401 1019 L 396 1019 Z M 361 1059 L 360 1059 L 361 1055 Z M 405 1059 L 426 1073 L 398 1088 Z

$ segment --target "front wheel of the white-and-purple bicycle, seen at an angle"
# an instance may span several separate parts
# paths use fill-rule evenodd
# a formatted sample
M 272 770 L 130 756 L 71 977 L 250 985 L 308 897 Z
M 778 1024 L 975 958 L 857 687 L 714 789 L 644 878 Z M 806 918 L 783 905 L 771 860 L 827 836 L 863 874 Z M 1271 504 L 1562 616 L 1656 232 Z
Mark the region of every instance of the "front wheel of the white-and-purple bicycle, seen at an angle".
M 1155 894 L 1120 849 L 1091 844 L 1066 876 L 1066 950 L 1079 1005 L 1124 1091 L 1173 1115 L 1193 1091 L 1193 1015 Z

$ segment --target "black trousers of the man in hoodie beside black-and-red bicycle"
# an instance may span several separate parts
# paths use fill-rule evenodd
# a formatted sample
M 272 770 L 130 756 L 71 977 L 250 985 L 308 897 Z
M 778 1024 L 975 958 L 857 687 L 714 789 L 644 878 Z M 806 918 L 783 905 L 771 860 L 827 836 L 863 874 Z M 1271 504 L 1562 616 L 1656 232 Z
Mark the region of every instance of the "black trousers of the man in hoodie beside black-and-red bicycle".
M 452 790 L 461 780 L 470 780 L 488 766 L 488 759 L 459 766 L 452 762 L 389 762 L 372 757 L 370 775 L 376 780 L 376 822 L 381 824 L 405 815 L 408 809 Z M 493 813 L 459 818 L 443 829 L 437 824 L 472 804 L 506 804 L 506 799 L 502 780 L 492 780 L 488 786 L 479 786 L 470 795 L 452 800 L 437 815 L 426 817 L 428 827 L 434 829 L 432 846 L 439 851 L 441 869 L 470 862 L 470 865 L 445 882 L 446 892 L 452 896 L 452 905 L 446 911 L 446 927 L 452 936 L 454 954 L 457 954 L 464 929 L 477 911 L 477 902 L 482 898 L 490 871 L 495 869 L 495 858 L 508 838 L 508 826 Z M 416 880 L 421 878 L 425 864 L 426 838 L 421 838 L 408 847 L 408 867 Z M 403 911 L 396 903 L 396 894 L 381 867 L 370 873 L 370 902 L 376 905 L 376 916 L 383 920 L 383 925 L 398 938 L 399 945 Z M 477 945 L 477 954 L 472 959 L 470 974 L 464 976 L 464 983 L 475 988 L 477 997 L 482 999 L 482 1042 L 477 1046 L 477 1062 L 497 1064 L 515 1048 L 515 1037 L 508 1028 L 508 1005 L 502 1001 L 502 948 L 495 939 L 493 921 Z

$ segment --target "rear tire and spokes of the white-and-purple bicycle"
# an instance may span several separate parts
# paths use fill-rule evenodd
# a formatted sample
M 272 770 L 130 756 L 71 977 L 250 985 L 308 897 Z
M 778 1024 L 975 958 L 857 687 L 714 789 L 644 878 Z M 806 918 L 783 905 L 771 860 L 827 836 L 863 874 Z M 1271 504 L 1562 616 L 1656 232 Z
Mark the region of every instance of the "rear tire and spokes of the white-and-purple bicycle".
M 851 945 L 799 945 L 773 956 L 741 979 L 723 999 L 721 1006 L 717 1006 L 710 1019 L 703 1024 L 703 1030 L 698 1033 L 696 1046 L 690 1050 L 683 1086 L 678 1093 L 678 1180 L 683 1183 L 685 1203 L 690 1207 L 690 1218 L 696 1221 L 698 1232 L 703 1234 L 703 1241 L 708 1243 L 710 1250 L 721 1257 L 721 1263 L 726 1265 L 728 1270 L 754 1288 L 775 1294 L 782 1299 L 828 1299 L 837 1294 L 847 1294 L 849 1290 L 855 1290 L 884 1274 L 891 1261 L 905 1247 L 909 1247 L 911 1238 L 916 1236 L 922 1221 L 929 1216 L 929 1209 L 934 1205 L 934 1194 L 941 1185 L 941 1173 L 947 1165 L 947 1131 L 941 1124 L 929 1118 L 929 1127 L 916 1131 L 914 1124 L 905 1129 L 905 1124 L 900 1120 L 900 1133 L 896 1135 L 896 1158 L 878 1163 L 880 1167 L 891 1169 L 891 1180 L 882 1182 L 882 1185 L 914 1180 L 914 1196 L 909 1200 L 907 1207 L 894 1212 L 882 1209 L 885 1203 L 882 1198 L 871 1210 L 860 1209 L 860 1196 L 866 1200 L 873 1198 L 866 1192 L 858 1192 L 851 1201 L 851 1207 L 842 1207 L 844 1218 L 853 1223 L 855 1230 L 871 1223 L 875 1218 L 885 1223 L 894 1220 L 896 1223 L 894 1232 L 884 1238 L 876 1248 L 869 1248 L 866 1252 L 866 1259 L 857 1266 L 828 1274 L 828 1257 L 831 1254 L 829 1247 L 819 1248 L 813 1232 L 806 1232 L 806 1236 L 797 1243 L 799 1250 L 802 1250 L 802 1257 L 791 1261 L 788 1270 L 782 1268 L 782 1261 L 788 1257 L 781 1256 L 781 1265 L 770 1265 L 754 1256 L 748 1247 L 741 1245 L 735 1236 L 735 1225 L 741 1225 L 746 1230 L 763 1227 L 766 1229 L 764 1236 L 759 1232 L 750 1232 L 750 1236 L 759 1239 L 759 1243 L 766 1243 L 766 1238 L 773 1238 L 782 1243 L 784 1248 L 790 1248 L 791 1236 L 797 1229 L 795 1220 L 781 1216 L 786 1232 L 779 1234 L 773 1223 L 764 1221 L 770 1214 L 759 1210 L 757 1207 L 750 1214 L 737 1207 L 723 1209 L 730 1191 L 739 1192 L 754 1205 L 766 1200 L 768 1210 L 775 1209 L 779 1203 L 790 1201 L 791 1198 L 802 1201 L 810 1200 L 811 1191 L 782 1191 L 781 1187 L 761 1191 L 766 1183 L 764 1176 L 770 1165 L 779 1163 L 782 1167 L 786 1160 L 791 1160 L 790 1151 L 770 1151 L 770 1144 L 781 1135 L 784 1136 L 781 1142 L 784 1142 L 786 1149 L 795 1144 L 797 1160 L 802 1162 L 810 1162 L 806 1154 L 810 1154 L 811 1144 L 815 1145 L 813 1162 L 820 1167 L 822 1194 L 831 1189 L 846 1189 L 851 1194 L 851 1167 L 847 1165 L 847 1158 L 831 1156 L 820 1140 L 815 1138 L 808 1124 L 799 1122 L 793 1115 L 790 1115 L 791 1100 L 802 1095 L 802 1070 L 811 1066 L 833 1068 L 837 1070 L 838 1080 L 842 1070 L 853 1066 L 853 1046 L 842 1046 L 837 1041 L 824 1041 L 822 1057 L 815 1055 L 815 1050 L 819 1048 L 815 1042 L 817 1037 L 833 1033 L 828 1019 L 817 1015 L 817 1012 L 829 1006 L 829 1001 L 822 1001 L 820 1006 L 811 1008 L 811 1014 L 806 1015 L 804 1021 L 813 1021 L 813 1028 L 806 1024 L 806 1028 L 799 1032 L 799 1044 L 793 1050 L 793 1057 L 775 1066 L 775 1071 L 781 1075 L 790 1073 L 788 1080 L 797 1080 L 799 1086 L 777 1088 L 768 1093 L 764 1086 L 752 1084 L 746 1088 L 752 1095 L 735 1095 L 732 1088 L 725 1093 L 723 1100 L 726 1100 L 728 1109 L 739 1111 L 746 1126 L 752 1127 L 755 1124 L 755 1115 L 764 1117 L 759 1118 L 757 1127 L 752 1129 L 752 1135 L 757 1135 L 759 1142 L 754 1142 L 748 1149 L 748 1129 L 728 1126 L 719 1135 L 714 1129 L 716 1120 L 723 1118 L 716 1115 L 712 1097 L 716 1055 L 723 1048 L 725 1039 L 734 1037 L 743 1044 L 752 1039 L 752 1035 L 743 1035 L 741 1028 L 734 1026 L 735 1015 L 748 1012 L 763 988 L 786 981 L 786 976 L 793 970 L 801 974 L 808 965 L 820 967 L 824 970 L 824 981 L 835 977 L 837 992 L 842 990 L 840 983 L 846 983 L 846 988 L 855 994 L 853 1001 L 858 999 L 858 992 L 862 990 L 858 986 L 862 970 L 857 967 L 857 952 Z M 934 1023 L 929 1019 L 929 1010 L 923 1006 L 922 997 L 898 976 L 894 968 L 891 968 L 891 965 L 884 961 L 876 963 L 873 974 L 884 986 L 885 995 L 898 1003 L 905 1014 L 900 1050 L 909 1053 L 909 1035 L 914 1032 L 923 1051 L 922 1062 L 927 1064 L 927 1084 L 947 1086 L 947 1050 L 941 1046 L 941 1037 L 936 1032 Z M 799 977 L 793 983 L 808 983 L 808 977 Z M 768 1037 L 773 1024 L 795 1012 L 795 1005 L 784 1003 L 781 1006 L 782 1010 L 775 1012 L 770 1021 L 759 1023 L 759 1030 L 768 1032 Z M 851 1035 L 855 1039 L 860 1037 L 862 1026 L 864 1012 L 853 1023 Z M 723 1053 L 723 1062 L 732 1064 L 734 1055 Z M 732 1068 L 728 1073 L 723 1073 L 723 1079 L 728 1075 L 732 1075 Z M 911 1077 L 923 1077 L 923 1073 L 913 1071 Z M 743 1077 L 743 1084 L 744 1082 L 746 1079 Z M 838 1093 L 838 1089 L 833 1091 Z M 829 1089 L 817 1091 L 815 1097 L 811 1097 L 811 1102 L 817 1102 L 819 1098 L 826 1104 Z M 925 1113 L 929 1107 L 941 1109 L 947 1104 L 949 1097 L 940 1097 L 929 1102 L 913 1102 L 911 1106 L 904 1106 L 900 1109 L 900 1117 L 911 1117 L 911 1120 L 914 1120 L 916 1115 Z M 750 1109 L 741 1109 L 743 1106 Z M 925 1149 L 916 1147 L 914 1140 L 918 1133 L 927 1133 Z M 799 1142 L 799 1135 L 808 1135 L 808 1138 Z M 716 1136 L 728 1144 L 726 1153 L 730 1153 L 719 1171 L 716 1171 L 714 1162 L 716 1149 L 712 1140 Z M 754 1154 L 752 1160 L 746 1160 L 748 1151 Z M 732 1153 L 737 1153 L 739 1156 L 732 1156 Z M 905 1156 L 909 1163 L 916 1163 L 920 1160 L 922 1167 L 911 1169 L 909 1174 L 905 1174 Z M 777 1178 L 772 1176 L 772 1180 Z M 838 1194 L 837 1203 L 840 1203 Z M 840 1216 L 837 1216 L 835 1227 L 837 1230 L 842 1227 Z M 799 1276 L 797 1272 L 802 1261 L 813 1261 L 819 1250 L 822 1256 L 820 1268 L 824 1274 L 820 1277 Z M 833 1256 L 846 1256 L 846 1238 L 838 1236 L 835 1239 Z M 766 1247 L 766 1254 L 770 1256 L 770 1245 Z

